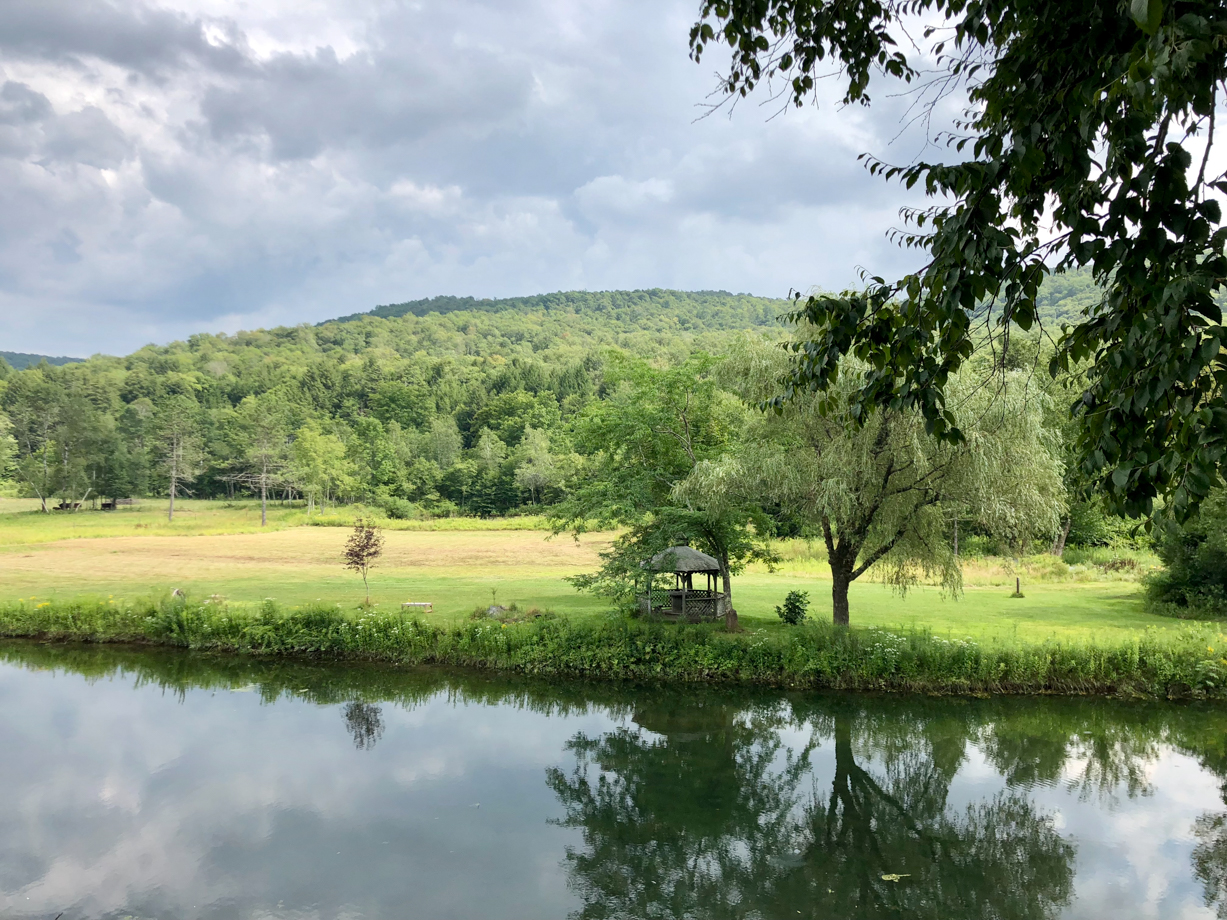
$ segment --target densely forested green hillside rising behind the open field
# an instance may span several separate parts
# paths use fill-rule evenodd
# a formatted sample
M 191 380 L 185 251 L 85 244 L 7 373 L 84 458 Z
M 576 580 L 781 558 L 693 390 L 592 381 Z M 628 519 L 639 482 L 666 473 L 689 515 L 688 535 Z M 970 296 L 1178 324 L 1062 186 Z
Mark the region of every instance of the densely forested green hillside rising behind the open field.
M 1086 293 L 1054 292 L 1056 318 Z M 572 421 L 609 395 L 611 363 L 676 367 L 747 330 L 774 337 L 788 305 L 660 289 L 433 298 L 126 357 L 0 364 L 9 477 L 70 504 L 172 489 L 362 499 L 391 515 L 553 503 L 583 475 Z

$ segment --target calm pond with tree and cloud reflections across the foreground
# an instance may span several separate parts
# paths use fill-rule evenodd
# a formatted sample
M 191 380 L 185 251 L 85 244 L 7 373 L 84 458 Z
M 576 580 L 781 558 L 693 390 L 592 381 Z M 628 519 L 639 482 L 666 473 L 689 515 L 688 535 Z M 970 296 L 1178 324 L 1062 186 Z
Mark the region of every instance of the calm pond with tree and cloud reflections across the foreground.
M 0 916 L 1227 916 L 1227 710 L 0 644 Z

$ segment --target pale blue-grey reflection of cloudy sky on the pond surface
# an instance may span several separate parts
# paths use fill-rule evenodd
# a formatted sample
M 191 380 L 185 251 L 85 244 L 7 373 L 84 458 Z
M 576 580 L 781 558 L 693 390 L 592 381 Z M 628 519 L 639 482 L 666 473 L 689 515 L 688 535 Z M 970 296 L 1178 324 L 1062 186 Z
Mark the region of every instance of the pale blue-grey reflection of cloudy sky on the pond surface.
M 546 769 L 572 770 L 577 732 L 663 740 L 600 709 L 545 715 L 440 692 L 413 709 L 383 704 L 383 735 L 357 749 L 344 709 L 0 665 L 0 915 L 566 916 L 580 902 L 564 853 L 584 841 L 551 821 L 563 808 Z M 795 725 L 779 737 L 794 751 L 815 740 Z M 858 757 L 881 772 L 877 753 Z M 801 790 L 826 794 L 829 736 L 810 763 Z M 956 812 L 1006 789 L 973 745 L 953 775 Z M 1066 916 L 1215 915 L 1190 870 L 1190 828 L 1223 810 L 1218 780 L 1169 748 L 1145 779 L 1134 797 L 1072 779 L 1028 790 L 1076 846 Z

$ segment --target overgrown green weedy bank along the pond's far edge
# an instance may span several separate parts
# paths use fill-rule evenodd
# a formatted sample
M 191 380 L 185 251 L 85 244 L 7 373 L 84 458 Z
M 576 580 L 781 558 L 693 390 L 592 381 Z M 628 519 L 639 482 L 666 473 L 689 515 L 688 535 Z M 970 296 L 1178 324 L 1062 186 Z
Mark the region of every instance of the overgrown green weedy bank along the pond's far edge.
M 0 606 L 0 637 L 144 643 L 337 661 L 444 664 L 556 677 L 950 694 L 1227 698 L 1220 624 L 1148 631 L 1118 643 L 985 645 L 924 632 L 838 629 L 730 634 L 610 616 L 475 619 L 440 627 L 335 606 L 258 608 L 183 599 Z

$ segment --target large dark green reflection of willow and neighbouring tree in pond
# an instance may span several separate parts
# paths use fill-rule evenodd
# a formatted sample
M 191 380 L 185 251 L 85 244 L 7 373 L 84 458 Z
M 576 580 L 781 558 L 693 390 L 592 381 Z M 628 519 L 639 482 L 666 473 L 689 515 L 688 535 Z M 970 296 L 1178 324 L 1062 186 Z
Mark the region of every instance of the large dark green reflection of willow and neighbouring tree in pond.
M 894 718 L 875 738 L 875 719 L 828 705 L 787 720 L 811 729 L 789 751 L 782 709 L 672 703 L 640 707 L 638 730 L 577 735 L 577 768 L 550 773 L 584 837 L 567 856 L 582 918 L 1023 920 L 1069 899 L 1074 850 L 1025 797 L 948 807 L 963 720 L 909 735 Z M 829 788 L 816 745 L 833 747 Z

